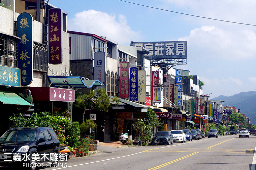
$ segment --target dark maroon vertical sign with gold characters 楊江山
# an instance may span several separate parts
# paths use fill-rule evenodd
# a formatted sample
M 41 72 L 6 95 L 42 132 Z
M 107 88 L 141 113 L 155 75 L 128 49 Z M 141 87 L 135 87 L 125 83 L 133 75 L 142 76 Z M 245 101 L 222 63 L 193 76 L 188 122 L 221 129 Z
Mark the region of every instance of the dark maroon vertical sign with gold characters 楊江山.
M 50 64 L 62 63 L 62 9 L 48 10 L 48 55 Z

